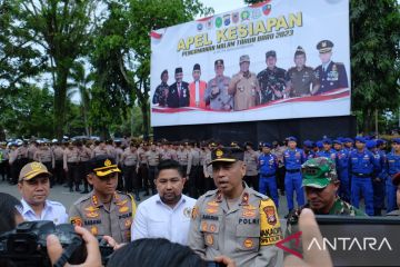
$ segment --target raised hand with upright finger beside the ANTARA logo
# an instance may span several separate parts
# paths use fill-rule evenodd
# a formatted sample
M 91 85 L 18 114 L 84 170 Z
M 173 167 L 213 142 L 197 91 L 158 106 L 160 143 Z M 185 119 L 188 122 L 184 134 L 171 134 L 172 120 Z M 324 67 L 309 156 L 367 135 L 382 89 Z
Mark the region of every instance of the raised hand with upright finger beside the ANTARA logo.
M 317 267 L 317 266 L 333 266 L 329 255 L 329 250 L 320 250 L 313 248 L 308 250 L 310 243 L 313 238 L 318 239 L 319 244 L 322 244 L 322 235 L 318 227 L 316 216 L 311 209 L 302 209 L 299 218 L 299 229 L 302 231 L 302 249 L 303 259 L 300 259 L 293 255 L 284 258 L 283 266 L 303 266 L 303 267 Z

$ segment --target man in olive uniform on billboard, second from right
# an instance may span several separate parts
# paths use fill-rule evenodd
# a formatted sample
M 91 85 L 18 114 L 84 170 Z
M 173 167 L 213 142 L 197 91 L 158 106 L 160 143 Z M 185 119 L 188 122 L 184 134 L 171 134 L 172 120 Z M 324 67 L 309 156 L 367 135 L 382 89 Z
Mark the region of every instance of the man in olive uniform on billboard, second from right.
M 313 95 L 319 89 L 319 81 L 313 69 L 306 66 L 306 51 L 298 47 L 294 52 L 294 67 L 287 72 L 287 91 L 290 97 L 307 97 Z

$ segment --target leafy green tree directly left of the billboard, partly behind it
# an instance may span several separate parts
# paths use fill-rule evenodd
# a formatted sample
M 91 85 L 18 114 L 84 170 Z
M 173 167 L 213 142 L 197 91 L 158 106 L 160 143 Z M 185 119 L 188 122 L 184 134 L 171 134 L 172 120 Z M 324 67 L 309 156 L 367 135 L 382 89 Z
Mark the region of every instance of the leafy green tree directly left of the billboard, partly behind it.
M 143 117 L 144 138 L 149 136 L 150 37 L 153 29 L 192 20 L 209 13 L 197 0 L 107 1 L 109 17 L 99 28 L 92 65 L 97 91 L 112 95 L 117 113 L 128 117 L 128 107 L 137 100 Z M 94 99 L 94 98 L 93 98 Z M 107 99 L 106 99 L 107 101 Z M 107 112 L 103 110 L 103 112 Z M 107 118 L 103 116 L 102 118 Z

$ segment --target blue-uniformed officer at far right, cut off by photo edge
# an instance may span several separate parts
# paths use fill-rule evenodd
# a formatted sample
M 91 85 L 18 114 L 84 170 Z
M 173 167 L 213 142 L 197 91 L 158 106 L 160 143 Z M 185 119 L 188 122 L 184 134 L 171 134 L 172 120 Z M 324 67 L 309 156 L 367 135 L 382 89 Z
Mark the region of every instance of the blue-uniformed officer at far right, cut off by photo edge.
M 386 192 L 388 196 L 387 212 L 397 208 L 396 191 L 397 186 L 393 185 L 392 178 L 400 172 L 400 138 L 392 139 L 392 150 L 386 157 Z

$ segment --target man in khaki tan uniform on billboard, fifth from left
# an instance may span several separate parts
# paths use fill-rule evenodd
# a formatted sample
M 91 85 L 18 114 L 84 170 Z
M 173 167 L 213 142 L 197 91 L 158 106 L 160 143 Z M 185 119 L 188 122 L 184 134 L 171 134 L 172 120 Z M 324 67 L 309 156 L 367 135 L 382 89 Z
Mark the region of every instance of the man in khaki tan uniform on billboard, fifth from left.
M 240 111 L 260 103 L 260 86 L 253 72 L 249 71 L 250 57 L 243 55 L 239 60 L 240 71 L 229 82 L 228 92 L 234 96 L 233 110 Z

